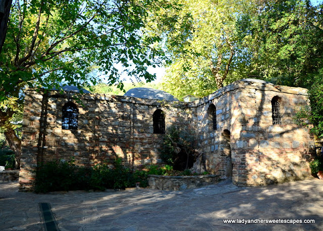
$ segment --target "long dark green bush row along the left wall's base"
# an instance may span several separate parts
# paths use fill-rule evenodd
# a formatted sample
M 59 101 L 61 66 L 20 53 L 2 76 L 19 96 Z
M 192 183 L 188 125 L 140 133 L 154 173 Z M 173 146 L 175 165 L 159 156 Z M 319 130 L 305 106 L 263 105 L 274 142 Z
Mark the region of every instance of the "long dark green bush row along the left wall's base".
M 122 165 L 122 159 L 117 158 L 114 167 L 107 164 L 96 164 L 93 167 L 75 165 L 74 159 L 68 162 L 49 161 L 39 165 L 36 171 L 35 192 L 69 190 L 104 190 L 147 187 L 146 171 L 131 171 Z

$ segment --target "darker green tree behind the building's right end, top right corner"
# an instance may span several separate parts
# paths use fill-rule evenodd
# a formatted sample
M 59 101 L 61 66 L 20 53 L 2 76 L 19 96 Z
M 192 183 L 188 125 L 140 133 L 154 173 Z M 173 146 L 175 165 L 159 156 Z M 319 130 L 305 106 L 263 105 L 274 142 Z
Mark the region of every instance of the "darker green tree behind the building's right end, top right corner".
M 259 2 L 258 14 L 238 21 L 239 47 L 250 73 L 287 86 L 309 88 L 323 65 L 323 15 L 308 0 Z

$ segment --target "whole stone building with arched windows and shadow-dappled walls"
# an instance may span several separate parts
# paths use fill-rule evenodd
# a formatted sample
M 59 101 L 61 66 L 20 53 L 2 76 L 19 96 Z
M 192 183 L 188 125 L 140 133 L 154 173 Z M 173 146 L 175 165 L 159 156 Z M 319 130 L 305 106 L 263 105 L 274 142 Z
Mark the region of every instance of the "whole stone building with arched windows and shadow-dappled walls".
M 21 188 L 32 189 L 37 163 L 47 160 L 74 157 L 89 166 L 121 157 L 133 166 L 158 163 L 171 125 L 194 134 L 207 171 L 232 177 L 236 185 L 310 176 L 314 141 L 293 120 L 308 103 L 306 89 L 244 79 L 192 102 L 133 96 L 26 90 Z

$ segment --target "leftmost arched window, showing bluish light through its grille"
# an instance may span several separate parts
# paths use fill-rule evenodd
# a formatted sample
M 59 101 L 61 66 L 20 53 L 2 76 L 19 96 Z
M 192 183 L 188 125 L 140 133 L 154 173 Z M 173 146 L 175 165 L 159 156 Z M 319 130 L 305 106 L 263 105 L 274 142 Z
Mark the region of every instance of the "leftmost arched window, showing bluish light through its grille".
M 77 106 L 74 103 L 65 103 L 62 110 L 62 115 L 62 129 L 77 129 L 77 119 L 79 116 L 79 110 L 77 109 Z

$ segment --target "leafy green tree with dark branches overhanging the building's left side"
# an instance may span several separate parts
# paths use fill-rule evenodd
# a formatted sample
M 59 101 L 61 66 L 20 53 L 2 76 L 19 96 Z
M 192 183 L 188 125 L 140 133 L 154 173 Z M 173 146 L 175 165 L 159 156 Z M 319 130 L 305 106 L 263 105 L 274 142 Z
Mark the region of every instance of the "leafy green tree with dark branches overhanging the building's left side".
M 22 111 L 29 87 L 79 88 L 96 83 L 93 70 L 122 88 L 115 68 L 120 63 L 129 76 L 154 78 L 147 66 L 159 63 L 158 41 L 141 30 L 150 0 L 24 0 L 11 8 L 7 37 L 0 56 L 0 127 L 19 166 L 21 141 L 12 123 Z

